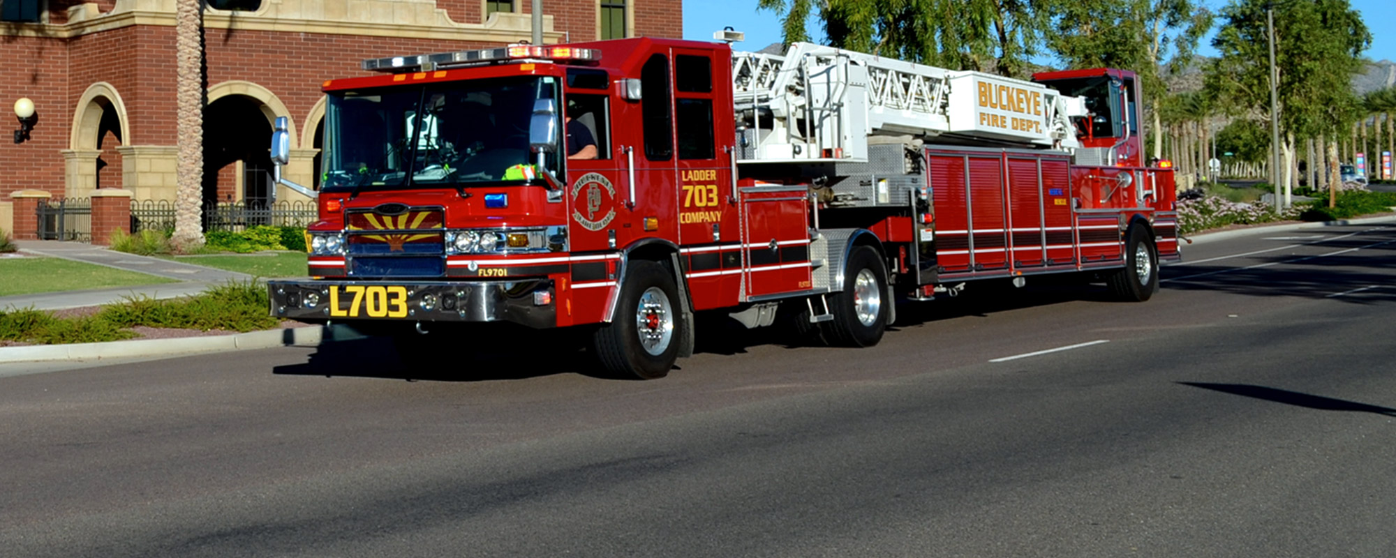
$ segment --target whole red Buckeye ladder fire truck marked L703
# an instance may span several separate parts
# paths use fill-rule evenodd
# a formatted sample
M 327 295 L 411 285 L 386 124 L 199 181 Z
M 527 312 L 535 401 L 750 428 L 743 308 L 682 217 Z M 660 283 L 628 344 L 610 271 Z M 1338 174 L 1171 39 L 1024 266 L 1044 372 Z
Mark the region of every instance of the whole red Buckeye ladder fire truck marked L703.
M 1178 257 L 1129 71 L 651 38 L 363 67 L 324 82 L 310 278 L 269 283 L 274 315 L 405 346 L 578 326 L 607 370 L 655 378 L 698 311 L 870 346 L 898 300 L 1069 272 L 1142 301 Z

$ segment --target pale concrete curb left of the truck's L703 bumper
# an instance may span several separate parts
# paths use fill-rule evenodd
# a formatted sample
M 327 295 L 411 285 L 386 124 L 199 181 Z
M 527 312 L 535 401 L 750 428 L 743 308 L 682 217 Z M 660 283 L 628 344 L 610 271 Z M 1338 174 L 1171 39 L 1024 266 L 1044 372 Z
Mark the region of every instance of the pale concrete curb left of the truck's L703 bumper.
M 106 343 L 35 345 L 0 347 L 0 363 L 38 363 L 53 360 L 102 360 L 154 356 L 216 353 L 285 346 L 320 346 L 324 340 L 345 339 L 325 326 L 268 329 L 235 335 L 174 339 L 135 339 Z

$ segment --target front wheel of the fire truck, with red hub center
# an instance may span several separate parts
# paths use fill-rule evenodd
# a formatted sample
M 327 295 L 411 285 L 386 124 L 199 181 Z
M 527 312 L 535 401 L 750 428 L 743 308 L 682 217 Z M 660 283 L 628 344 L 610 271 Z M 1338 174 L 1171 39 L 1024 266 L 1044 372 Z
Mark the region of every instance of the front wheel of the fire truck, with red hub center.
M 592 333 L 602 368 L 617 377 L 663 378 L 687 335 L 674 276 L 652 261 L 632 261 L 621 285 L 616 319 Z

